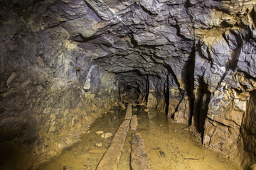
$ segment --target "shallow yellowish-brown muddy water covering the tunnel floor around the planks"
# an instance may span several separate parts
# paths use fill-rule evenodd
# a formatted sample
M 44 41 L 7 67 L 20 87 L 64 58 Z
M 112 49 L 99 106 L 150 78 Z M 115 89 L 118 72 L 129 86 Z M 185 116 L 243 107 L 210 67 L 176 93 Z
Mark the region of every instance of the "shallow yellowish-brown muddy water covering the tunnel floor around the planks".
M 146 153 L 152 170 L 156 169 L 193 169 L 193 170 L 241 170 L 222 154 L 217 154 L 201 147 L 193 140 L 193 135 L 184 130 L 186 125 L 169 123 L 163 114 L 145 113 L 144 107 L 138 106 L 133 111 L 137 114 L 138 129 L 129 130 L 124 144 L 118 170 L 129 170 L 132 133 L 140 132 L 146 147 Z M 110 113 L 102 115 L 90 127 L 90 133 L 82 135 L 80 142 L 65 149 L 63 153 L 41 166 L 40 170 L 88 169 L 97 168 L 100 159 L 110 146 L 112 137 L 103 139 L 96 135 L 97 131 L 111 132 L 113 135 L 124 120 L 125 111 L 114 108 Z M 95 143 L 102 143 L 101 147 Z

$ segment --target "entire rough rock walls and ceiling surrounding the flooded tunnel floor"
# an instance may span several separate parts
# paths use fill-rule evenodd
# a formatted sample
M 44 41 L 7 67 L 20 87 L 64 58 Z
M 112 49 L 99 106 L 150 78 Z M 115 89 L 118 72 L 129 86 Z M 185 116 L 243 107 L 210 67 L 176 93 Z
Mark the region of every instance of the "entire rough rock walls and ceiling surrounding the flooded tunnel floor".
M 254 164 L 255 4 L 0 0 L 0 142 L 31 148 L 37 166 L 121 89 Z

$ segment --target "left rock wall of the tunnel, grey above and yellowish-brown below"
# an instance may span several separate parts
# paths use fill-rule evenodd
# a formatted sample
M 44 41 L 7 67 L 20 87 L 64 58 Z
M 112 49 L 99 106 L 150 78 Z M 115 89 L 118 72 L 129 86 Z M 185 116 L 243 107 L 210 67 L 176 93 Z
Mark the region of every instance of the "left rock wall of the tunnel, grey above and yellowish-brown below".
M 78 142 L 118 101 L 118 87 L 115 75 L 86 57 L 64 28 L 41 28 L 31 19 L 40 19 L 30 15 L 35 6 L 7 5 L 0 10 L 0 143 L 30 149 L 26 167 L 36 167 Z

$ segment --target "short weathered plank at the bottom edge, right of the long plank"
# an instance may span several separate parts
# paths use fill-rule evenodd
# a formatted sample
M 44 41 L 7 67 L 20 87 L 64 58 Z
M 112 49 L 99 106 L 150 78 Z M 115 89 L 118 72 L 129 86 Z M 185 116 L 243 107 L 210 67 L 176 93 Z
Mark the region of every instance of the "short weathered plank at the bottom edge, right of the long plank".
M 140 133 L 132 134 L 132 170 L 148 170 L 151 169 L 149 160 L 146 155 L 146 149 Z

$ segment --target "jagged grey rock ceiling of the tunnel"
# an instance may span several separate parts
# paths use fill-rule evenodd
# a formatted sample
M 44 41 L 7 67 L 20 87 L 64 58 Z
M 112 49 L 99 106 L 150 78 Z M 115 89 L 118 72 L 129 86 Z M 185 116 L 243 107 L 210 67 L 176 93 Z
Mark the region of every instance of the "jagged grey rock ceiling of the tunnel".
M 124 83 L 142 84 L 146 75 L 166 79 L 170 74 L 181 89 L 187 84 L 185 74 L 193 74 L 188 67 L 194 62 L 198 40 L 214 30 L 222 34 L 242 26 L 252 4 L 206 0 L 2 2 L 3 8 L 16 9 L 33 31 L 57 31 L 79 47 L 82 57 L 117 74 Z M 210 48 L 209 52 L 210 58 L 218 53 Z M 83 67 L 78 57 L 75 60 L 76 67 Z

